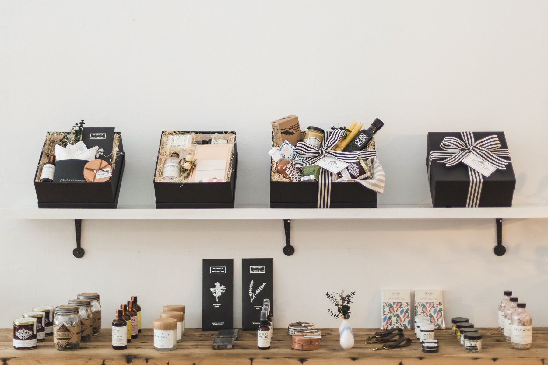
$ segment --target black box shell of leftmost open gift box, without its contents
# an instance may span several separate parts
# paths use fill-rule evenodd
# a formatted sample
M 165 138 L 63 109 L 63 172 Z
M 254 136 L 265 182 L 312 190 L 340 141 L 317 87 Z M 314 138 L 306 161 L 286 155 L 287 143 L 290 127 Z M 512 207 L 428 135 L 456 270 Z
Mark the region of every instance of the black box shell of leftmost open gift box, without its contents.
M 85 128 L 84 128 L 85 131 Z M 120 135 L 120 132 L 116 132 Z M 125 166 L 124 146 L 122 137 L 118 145 L 118 155 L 109 181 L 101 183 L 64 183 L 36 181 L 39 167 L 34 176 L 36 197 L 39 208 L 116 208 L 122 185 L 122 175 Z M 45 147 L 45 143 L 44 143 Z M 89 146 L 88 146 L 89 147 Z M 94 147 L 94 146 L 92 146 Z M 112 147 L 110 148 L 112 152 Z M 42 161 L 42 154 L 38 161 Z M 67 160 L 69 161 L 69 160 Z M 79 160 L 72 160 L 79 161 Z M 110 161 L 110 157 L 109 157 Z M 86 161 L 87 162 L 87 161 Z M 73 162 L 74 163 L 74 162 Z M 78 162 L 76 162 L 77 164 Z M 39 164 L 39 162 L 38 162 Z M 85 164 L 84 164 L 85 165 Z M 57 171 L 57 169 L 56 169 Z M 83 166 L 82 166 L 83 171 Z

